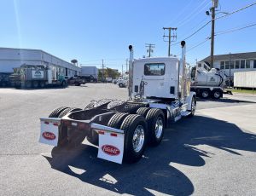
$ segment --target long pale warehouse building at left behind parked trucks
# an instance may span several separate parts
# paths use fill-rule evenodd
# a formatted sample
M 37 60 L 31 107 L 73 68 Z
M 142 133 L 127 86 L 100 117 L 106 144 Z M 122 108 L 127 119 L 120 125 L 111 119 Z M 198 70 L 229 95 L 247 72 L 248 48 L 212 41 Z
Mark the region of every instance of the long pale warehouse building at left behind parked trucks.
M 81 73 L 79 66 L 61 60 L 41 49 L 0 48 L 0 72 L 14 72 L 14 68 L 23 64 L 53 67 L 60 74 L 70 77 Z

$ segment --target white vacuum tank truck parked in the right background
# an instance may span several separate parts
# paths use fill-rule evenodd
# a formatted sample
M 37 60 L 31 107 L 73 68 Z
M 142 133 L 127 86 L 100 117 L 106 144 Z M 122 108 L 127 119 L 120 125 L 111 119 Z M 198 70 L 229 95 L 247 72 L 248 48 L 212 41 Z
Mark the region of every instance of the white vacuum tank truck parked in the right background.
M 226 75 L 223 71 L 215 68 L 210 68 L 207 64 L 204 66 L 190 67 L 191 87 L 197 96 L 204 99 L 212 97 L 219 99 L 223 97 Z

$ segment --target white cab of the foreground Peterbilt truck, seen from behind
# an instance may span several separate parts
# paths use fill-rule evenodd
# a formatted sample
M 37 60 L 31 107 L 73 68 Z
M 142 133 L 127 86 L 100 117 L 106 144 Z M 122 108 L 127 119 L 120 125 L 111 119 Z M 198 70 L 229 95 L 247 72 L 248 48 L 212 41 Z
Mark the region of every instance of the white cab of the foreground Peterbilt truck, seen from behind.
M 183 72 L 185 77 L 183 77 Z M 174 57 L 144 58 L 133 62 L 132 96 L 143 89 L 143 98 L 178 99 L 189 95 L 188 67 L 184 69 L 180 60 Z

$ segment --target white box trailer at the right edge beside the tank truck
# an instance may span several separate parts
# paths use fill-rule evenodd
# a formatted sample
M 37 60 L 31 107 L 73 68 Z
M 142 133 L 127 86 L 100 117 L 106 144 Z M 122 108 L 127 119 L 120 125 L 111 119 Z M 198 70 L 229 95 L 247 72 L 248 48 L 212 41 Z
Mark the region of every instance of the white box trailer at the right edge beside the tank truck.
M 256 89 L 256 71 L 235 72 L 234 87 Z

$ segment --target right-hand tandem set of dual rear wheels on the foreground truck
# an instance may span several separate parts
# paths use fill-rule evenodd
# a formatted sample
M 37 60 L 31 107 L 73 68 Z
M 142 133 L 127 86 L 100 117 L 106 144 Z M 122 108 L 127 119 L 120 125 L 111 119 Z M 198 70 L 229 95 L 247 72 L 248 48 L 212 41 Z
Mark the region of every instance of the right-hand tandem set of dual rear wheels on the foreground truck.
M 116 113 L 110 118 L 109 127 L 125 131 L 126 163 L 141 159 L 147 144 L 160 144 L 164 134 L 164 117 L 164 112 L 160 109 L 141 107 L 137 114 Z

